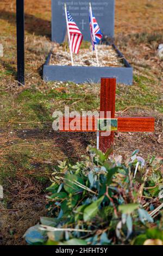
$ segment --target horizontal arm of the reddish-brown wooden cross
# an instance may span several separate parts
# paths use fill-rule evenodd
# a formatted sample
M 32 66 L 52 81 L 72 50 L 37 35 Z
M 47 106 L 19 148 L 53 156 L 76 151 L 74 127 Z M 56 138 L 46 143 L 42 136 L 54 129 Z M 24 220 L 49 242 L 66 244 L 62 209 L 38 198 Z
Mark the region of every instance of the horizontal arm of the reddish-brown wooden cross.
M 63 117 L 59 120 L 61 132 L 97 132 L 98 117 Z M 119 132 L 154 132 L 155 119 L 152 117 L 118 117 Z

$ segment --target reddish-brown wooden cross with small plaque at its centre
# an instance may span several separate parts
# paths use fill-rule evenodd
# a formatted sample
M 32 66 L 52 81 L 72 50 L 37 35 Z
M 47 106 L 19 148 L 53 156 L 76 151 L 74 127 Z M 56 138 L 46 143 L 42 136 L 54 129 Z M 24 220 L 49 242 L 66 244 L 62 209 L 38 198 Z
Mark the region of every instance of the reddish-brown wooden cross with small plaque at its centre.
M 115 98 L 116 98 L 116 78 L 101 78 L 101 101 L 100 101 L 100 111 L 104 111 L 104 118 L 106 118 L 106 113 L 111 112 L 111 121 L 114 121 L 114 129 L 111 130 L 109 136 L 102 136 L 103 131 L 98 129 L 97 121 L 99 118 L 90 117 L 76 118 L 79 120 L 79 125 L 76 130 L 71 130 L 71 122 L 74 118 L 64 117 L 60 118 L 60 131 L 65 132 L 98 132 L 99 133 L 99 149 L 106 152 L 107 149 L 114 145 L 114 130 L 118 132 L 154 132 L 154 121 L 152 117 L 116 117 L 115 118 Z M 92 122 L 92 129 L 90 130 L 89 124 Z M 83 123 L 86 125 L 83 128 Z M 112 122 L 113 123 L 113 122 Z M 98 148 L 98 145 L 97 145 Z

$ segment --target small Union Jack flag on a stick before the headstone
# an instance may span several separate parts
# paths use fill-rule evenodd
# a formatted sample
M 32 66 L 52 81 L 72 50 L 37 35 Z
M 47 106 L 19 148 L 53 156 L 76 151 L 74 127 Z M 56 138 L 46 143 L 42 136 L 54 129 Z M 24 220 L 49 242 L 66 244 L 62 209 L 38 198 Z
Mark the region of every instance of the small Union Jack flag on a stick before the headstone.
M 93 28 L 92 28 L 93 25 Z M 92 14 L 90 8 L 90 31 L 91 31 L 91 41 L 93 46 L 93 51 L 95 51 L 95 45 L 99 44 L 99 41 L 102 39 L 103 34 L 98 26 L 95 16 Z M 95 35 L 95 38 L 94 38 Z

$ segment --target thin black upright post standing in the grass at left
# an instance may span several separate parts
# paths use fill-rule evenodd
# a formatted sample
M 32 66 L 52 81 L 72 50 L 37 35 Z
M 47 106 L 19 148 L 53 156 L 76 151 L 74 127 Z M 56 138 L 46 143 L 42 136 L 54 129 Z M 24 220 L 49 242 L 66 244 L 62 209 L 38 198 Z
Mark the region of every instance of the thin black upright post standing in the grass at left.
M 24 85 L 24 0 L 16 0 L 17 81 Z

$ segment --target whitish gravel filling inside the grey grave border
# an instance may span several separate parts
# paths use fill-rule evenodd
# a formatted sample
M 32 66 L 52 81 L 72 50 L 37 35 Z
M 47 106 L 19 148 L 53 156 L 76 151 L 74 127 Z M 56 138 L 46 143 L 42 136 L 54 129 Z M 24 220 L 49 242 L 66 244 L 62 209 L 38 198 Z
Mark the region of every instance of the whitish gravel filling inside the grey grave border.
M 97 45 L 100 66 L 124 66 L 112 46 Z M 64 46 L 55 45 L 53 48 L 51 65 L 71 65 L 70 50 Z M 96 53 L 90 48 L 79 50 L 78 54 L 73 54 L 74 66 L 97 66 Z

